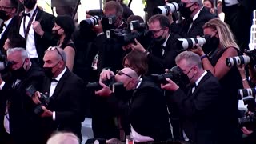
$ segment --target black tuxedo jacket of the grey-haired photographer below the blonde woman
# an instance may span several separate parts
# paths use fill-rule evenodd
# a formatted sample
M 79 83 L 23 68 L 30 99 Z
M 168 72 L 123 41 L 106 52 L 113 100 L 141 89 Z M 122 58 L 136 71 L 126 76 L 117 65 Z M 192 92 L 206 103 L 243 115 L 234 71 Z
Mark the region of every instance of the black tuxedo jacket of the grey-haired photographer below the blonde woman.
M 225 117 L 222 114 L 225 105 L 218 79 L 207 71 L 193 94 L 191 90 L 190 86 L 188 94 L 181 89 L 167 94 L 170 105 L 178 107 L 183 128 L 192 143 L 219 143 L 218 139 L 222 134 L 220 128 L 225 127 Z

